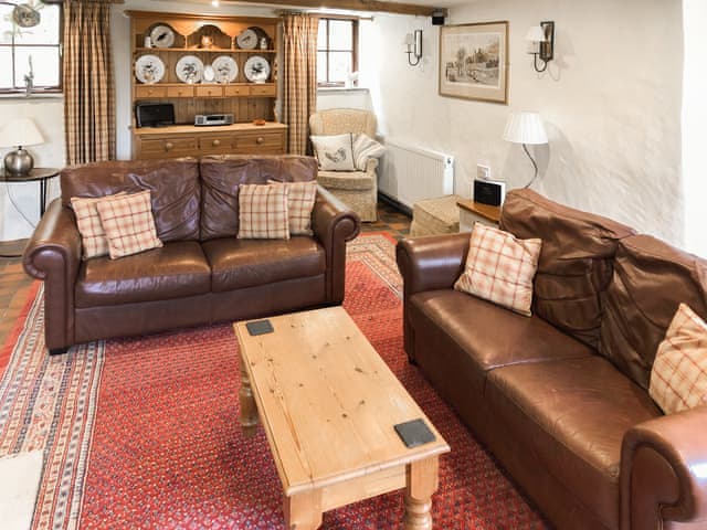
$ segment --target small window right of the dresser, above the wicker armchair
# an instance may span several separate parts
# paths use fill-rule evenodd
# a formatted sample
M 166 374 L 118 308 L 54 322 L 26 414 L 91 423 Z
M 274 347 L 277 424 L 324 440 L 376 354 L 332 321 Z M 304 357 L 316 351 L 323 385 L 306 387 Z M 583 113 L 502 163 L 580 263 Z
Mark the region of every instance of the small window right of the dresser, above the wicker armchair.
M 317 84 L 344 86 L 358 70 L 358 20 L 319 19 Z

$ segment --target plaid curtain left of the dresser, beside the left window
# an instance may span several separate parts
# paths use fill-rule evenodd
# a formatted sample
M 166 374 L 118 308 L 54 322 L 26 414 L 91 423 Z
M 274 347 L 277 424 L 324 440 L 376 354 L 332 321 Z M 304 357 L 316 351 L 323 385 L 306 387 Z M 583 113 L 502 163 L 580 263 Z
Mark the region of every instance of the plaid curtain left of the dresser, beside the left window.
M 66 162 L 115 159 L 110 0 L 64 1 Z

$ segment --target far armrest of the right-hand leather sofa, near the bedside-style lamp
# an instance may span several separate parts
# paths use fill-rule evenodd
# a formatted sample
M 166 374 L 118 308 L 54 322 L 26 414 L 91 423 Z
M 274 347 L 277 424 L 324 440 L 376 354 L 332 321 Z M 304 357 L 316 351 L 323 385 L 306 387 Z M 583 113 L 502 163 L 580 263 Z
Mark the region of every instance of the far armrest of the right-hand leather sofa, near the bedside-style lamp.
M 464 271 L 468 233 L 411 237 L 398 242 L 395 258 L 404 298 L 432 289 L 452 288 Z

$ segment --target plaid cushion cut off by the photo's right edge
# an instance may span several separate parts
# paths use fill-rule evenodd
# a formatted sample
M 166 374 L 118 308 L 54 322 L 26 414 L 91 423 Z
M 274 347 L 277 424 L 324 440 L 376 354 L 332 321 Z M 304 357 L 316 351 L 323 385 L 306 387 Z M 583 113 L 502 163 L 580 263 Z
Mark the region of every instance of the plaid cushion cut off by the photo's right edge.
M 707 324 L 686 304 L 658 346 L 648 393 L 665 414 L 707 405 Z

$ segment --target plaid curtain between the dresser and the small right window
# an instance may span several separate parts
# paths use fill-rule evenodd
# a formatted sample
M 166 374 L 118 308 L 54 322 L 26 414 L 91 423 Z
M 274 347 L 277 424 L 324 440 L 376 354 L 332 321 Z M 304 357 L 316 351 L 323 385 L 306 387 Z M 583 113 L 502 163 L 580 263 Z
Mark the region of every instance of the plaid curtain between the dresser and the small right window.
M 319 19 L 306 13 L 283 15 L 283 121 L 289 126 L 288 152 L 305 155 L 307 121 L 317 107 L 317 30 Z

